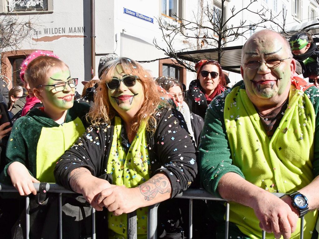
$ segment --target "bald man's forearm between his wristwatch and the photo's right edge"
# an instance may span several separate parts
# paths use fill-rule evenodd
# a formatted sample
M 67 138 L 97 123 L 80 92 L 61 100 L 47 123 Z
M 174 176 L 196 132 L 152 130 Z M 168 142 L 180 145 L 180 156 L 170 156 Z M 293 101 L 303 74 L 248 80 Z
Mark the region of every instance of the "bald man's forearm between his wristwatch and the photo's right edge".
M 298 190 L 298 192 L 305 195 L 309 202 L 309 210 L 315 210 L 319 208 L 319 176 L 315 177 L 314 180 L 304 188 Z

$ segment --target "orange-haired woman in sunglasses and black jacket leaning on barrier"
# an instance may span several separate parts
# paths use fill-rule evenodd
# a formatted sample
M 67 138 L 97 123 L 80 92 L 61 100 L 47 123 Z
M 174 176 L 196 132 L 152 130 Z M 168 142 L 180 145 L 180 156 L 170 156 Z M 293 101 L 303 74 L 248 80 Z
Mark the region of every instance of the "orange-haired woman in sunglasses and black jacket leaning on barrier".
M 126 214 L 140 208 L 137 238 L 147 238 L 148 206 L 175 197 L 195 179 L 192 139 L 180 112 L 128 58 L 116 59 L 104 71 L 94 102 L 88 114 L 92 127 L 56 164 L 57 183 L 83 194 L 97 211 L 107 209 L 99 214 L 98 234 L 126 237 Z M 160 204 L 158 233 L 166 238 L 173 231 L 182 238 L 180 225 L 167 220 L 175 207 L 170 200 L 170 211 L 163 211 L 165 204 Z

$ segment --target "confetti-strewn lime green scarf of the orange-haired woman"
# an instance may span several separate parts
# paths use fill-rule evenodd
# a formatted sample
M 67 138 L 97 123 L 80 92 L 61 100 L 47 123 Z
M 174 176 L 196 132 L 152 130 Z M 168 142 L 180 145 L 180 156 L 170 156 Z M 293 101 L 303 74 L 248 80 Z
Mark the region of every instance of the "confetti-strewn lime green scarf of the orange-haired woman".
M 126 155 L 121 145 L 121 118 L 115 117 L 113 141 L 108 158 L 107 173 L 112 174 L 113 184 L 125 185 L 134 188 L 150 178 L 149 158 L 146 141 L 146 123 L 142 122 L 137 134 L 132 141 L 129 152 Z M 147 237 L 147 213 L 148 207 L 137 210 L 137 235 L 138 238 Z M 108 229 L 110 238 L 126 238 L 127 215 L 114 216 L 108 213 Z

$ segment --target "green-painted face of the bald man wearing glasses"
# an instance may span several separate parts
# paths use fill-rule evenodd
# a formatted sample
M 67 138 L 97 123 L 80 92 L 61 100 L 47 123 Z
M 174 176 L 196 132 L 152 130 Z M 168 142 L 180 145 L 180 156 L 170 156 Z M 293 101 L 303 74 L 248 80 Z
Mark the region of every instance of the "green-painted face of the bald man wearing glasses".
M 254 41 L 249 42 L 245 48 L 243 62 L 249 60 L 264 61 L 267 58 L 288 58 L 288 53 L 281 39 L 277 35 L 256 36 Z M 243 79 L 246 91 L 255 101 L 261 99 L 280 98 L 290 87 L 291 69 L 290 59 L 286 59 L 275 68 L 269 68 L 262 62 L 259 68 L 251 70 L 243 67 Z M 283 96 L 286 97 L 286 96 Z

